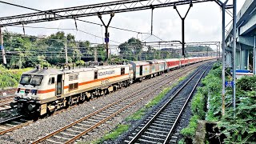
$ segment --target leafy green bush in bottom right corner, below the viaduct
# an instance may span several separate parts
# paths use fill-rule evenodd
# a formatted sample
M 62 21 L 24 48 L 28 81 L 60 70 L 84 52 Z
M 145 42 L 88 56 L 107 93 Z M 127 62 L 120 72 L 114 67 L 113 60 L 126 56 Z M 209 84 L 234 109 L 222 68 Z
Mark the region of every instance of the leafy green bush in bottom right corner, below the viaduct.
M 226 108 L 226 115 L 218 123 L 225 134 L 224 142 L 250 143 L 256 142 L 256 77 L 242 77 L 237 82 L 236 110 Z M 231 90 L 227 91 L 231 95 Z M 235 118 L 234 118 L 235 114 Z

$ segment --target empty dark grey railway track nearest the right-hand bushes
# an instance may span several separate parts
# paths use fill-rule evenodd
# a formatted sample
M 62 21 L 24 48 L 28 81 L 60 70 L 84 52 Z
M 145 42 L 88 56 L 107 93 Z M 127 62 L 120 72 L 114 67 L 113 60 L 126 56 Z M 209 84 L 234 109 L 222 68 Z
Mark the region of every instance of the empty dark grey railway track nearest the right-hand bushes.
M 198 70 L 174 95 L 150 115 L 126 140 L 126 143 L 177 143 L 174 128 L 194 93 L 198 82 L 209 68 Z

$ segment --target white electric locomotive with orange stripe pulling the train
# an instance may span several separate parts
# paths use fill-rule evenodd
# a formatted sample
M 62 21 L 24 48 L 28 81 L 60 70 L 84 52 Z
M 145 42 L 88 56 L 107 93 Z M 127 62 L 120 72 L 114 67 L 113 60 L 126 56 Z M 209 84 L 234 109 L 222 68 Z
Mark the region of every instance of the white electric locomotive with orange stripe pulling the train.
M 133 78 L 131 65 L 30 70 L 22 74 L 11 105 L 23 114 L 42 115 L 128 86 Z

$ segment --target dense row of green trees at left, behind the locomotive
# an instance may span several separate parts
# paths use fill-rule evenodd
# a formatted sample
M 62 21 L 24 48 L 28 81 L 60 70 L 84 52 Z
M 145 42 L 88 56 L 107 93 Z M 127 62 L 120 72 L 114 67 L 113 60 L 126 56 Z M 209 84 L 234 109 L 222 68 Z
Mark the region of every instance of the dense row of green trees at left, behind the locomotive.
M 68 62 L 77 62 L 83 56 L 86 57 L 82 50 L 86 54 L 94 54 L 89 41 L 75 42 L 74 35 L 65 35 L 63 31 L 50 34 L 46 38 L 24 36 L 8 31 L 4 31 L 3 34 L 7 63 L 10 68 L 33 67 L 39 63 L 45 66 L 64 63 L 65 46 L 68 51 Z

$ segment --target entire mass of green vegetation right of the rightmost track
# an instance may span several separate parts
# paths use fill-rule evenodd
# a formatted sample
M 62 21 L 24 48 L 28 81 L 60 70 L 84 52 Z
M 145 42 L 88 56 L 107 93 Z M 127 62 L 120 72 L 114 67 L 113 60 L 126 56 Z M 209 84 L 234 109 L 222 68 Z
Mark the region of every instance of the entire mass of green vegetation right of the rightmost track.
M 191 103 L 193 117 L 190 118 L 190 125 L 182 130 L 188 142 L 194 138 L 195 127 L 198 119 L 206 119 L 210 122 L 218 122 L 221 134 L 226 138 L 225 143 L 250 143 L 256 142 L 256 77 L 243 77 L 237 82 L 237 107 L 233 110 L 232 91 L 226 90 L 226 114 L 222 117 L 222 67 L 214 64 L 213 70 L 202 80 L 203 86 L 198 88 Z M 206 99 L 209 98 L 209 109 L 206 110 Z M 234 118 L 235 114 L 235 118 Z

